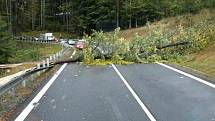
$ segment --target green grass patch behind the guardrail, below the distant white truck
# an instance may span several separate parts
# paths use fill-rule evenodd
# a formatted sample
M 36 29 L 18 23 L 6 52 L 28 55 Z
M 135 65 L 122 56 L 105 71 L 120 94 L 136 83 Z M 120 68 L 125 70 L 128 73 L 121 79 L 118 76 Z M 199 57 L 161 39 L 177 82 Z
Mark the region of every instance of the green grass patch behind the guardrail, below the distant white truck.
M 10 63 L 32 62 L 46 58 L 62 49 L 57 44 L 37 44 L 31 42 L 16 41 L 14 56 L 9 59 Z

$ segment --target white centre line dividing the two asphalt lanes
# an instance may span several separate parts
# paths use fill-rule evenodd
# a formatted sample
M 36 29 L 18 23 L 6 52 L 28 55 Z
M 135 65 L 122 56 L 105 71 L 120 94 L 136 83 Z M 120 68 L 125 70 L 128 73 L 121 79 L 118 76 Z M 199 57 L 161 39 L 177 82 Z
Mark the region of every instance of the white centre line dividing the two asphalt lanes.
M 140 100 L 140 98 L 137 96 L 137 94 L 135 93 L 135 91 L 131 88 L 131 86 L 129 85 L 129 83 L 125 80 L 125 78 L 122 76 L 122 74 L 119 72 L 119 70 L 116 68 L 116 66 L 114 64 L 112 64 L 112 67 L 114 68 L 114 70 L 116 71 L 116 73 L 119 75 L 119 77 L 122 79 L 122 81 L 124 82 L 125 86 L 128 88 L 128 90 L 131 92 L 131 94 L 133 95 L 133 97 L 135 98 L 135 100 L 138 102 L 138 104 L 141 106 L 141 108 L 143 109 L 143 111 L 146 113 L 146 115 L 149 117 L 149 119 L 151 121 L 156 121 L 156 119 L 154 118 L 154 116 L 151 114 L 151 112 L 147 109 L 147 107 L 145 106 L 145 104 Z

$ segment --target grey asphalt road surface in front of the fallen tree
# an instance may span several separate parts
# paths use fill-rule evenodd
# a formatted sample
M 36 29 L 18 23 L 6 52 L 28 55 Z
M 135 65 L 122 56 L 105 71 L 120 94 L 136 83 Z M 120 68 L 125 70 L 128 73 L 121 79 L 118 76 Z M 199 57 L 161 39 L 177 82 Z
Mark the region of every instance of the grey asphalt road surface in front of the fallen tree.
M 68 64 L 25 121 L 215 120 L 215 88 L 158 64 L 116 69 Z

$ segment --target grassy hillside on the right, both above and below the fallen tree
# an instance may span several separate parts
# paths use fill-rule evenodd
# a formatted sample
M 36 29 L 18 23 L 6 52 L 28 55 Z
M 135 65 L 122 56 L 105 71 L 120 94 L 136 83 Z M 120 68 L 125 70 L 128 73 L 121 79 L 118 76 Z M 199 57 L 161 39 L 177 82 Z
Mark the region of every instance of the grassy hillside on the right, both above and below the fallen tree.
M 200 28 L 196 33 L 195 38 L 198 42 L 202 41 L 204 43 L 204 46 L 200 49 L 196 49 L 196 51 L 194 51 L 195 53 L 192 52 L 191 54 L 180 56 L 180 58 L 176 60 L 173 59 L 168 61 L 170 63 L 192 68 L 194 70 L 200 71 L 206 76 L 215 78 L 215 31 L 213 27 L 215 20 L 213 18 L 215 18 L 214 10 L 203 10 L 199 14 L 186 14 L 183 16 L 166 18 L 158 22 L 149 23 L 144 27 L 123 30 L 120 34 L 121 37 L 124 37 L 127 40 L 131 40 L 136 33 L 144 37 L 154 30 L 159 30 L 163 33 L 167 33 L 169 31 L 174 31 L 178 25 L 183 26 L 183 28 L 185 28 L 184 30 L 186 30 L 186 28 L 200 23 L 200 25 L 202 25 L 202 28 Z M 206 22 L 206 24 L 201 24 L 202 21 L 202 23 L 204 23 L 204 21 L 206 20 L 212 21 Z M 211 29 L 209 30 L 209 28 Z M 183 34 L 180 34 L 181 33 L 179 33 L 179 36 L 183 36 Z

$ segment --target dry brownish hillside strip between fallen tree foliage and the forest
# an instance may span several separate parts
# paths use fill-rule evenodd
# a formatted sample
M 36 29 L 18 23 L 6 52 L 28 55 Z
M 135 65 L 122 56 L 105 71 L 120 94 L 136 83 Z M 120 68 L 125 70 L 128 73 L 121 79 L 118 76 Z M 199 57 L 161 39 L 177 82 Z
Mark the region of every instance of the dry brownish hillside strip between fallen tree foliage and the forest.
M 147 25 L 143 27 L 122 30 L 120 31 L 120 35 L 129 40 L 133 38 L 136 33 L 141 36 L 146 35 L 150 32 L 147 30 L 168 32 L 174 30 L 179 24 L 186 28 L 211 18 L 215 18 L 215 9 L 204 9 L 198 14 L 185 14 L 177 17 L 164 18 L 157 22 L 147 23 Z

